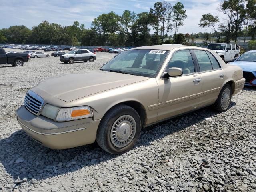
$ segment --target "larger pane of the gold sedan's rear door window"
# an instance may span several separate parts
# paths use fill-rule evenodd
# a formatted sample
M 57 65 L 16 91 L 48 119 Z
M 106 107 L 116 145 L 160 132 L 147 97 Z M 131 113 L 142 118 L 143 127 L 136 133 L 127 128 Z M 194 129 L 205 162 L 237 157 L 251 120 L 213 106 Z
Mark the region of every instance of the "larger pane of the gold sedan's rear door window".
M 198 60 L 200 71 L 212 70 L 212 63 L 208 57 L 208 54 L 203 50 L 194 50 L 196 58 Z

